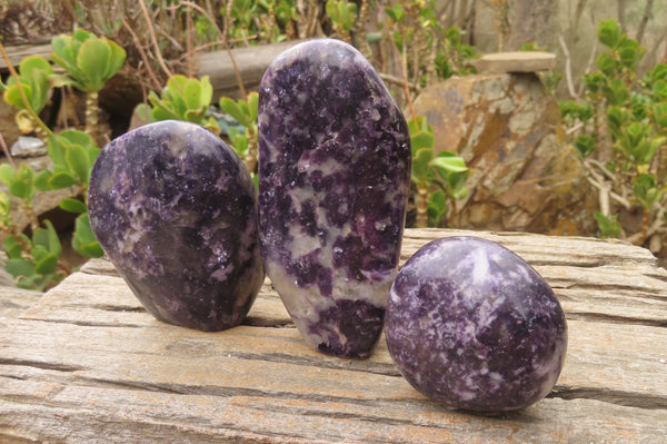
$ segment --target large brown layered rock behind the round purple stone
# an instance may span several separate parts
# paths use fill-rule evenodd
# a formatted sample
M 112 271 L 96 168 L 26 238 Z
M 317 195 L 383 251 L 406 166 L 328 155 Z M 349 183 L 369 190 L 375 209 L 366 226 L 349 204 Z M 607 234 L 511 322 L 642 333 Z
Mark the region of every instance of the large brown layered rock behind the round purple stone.
M 556 99 L 534 73 L 451 78 L 425 89 L 415 112 L 434 127 L 436 149 L 472 169 L 470 195 L 450 226 L 595 235 L 597 194 L 564 142 Z

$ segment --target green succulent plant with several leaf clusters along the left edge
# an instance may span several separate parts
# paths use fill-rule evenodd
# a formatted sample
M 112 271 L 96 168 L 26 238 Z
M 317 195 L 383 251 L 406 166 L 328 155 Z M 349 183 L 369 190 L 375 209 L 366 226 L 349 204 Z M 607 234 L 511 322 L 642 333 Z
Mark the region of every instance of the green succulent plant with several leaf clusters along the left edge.
M 53 165 L 52 169 L 39 174 L 26 164 L 0 166 L 0 180 L 12 196 L 10 198 L 8 194 L 0 193 L 0 228 L 6 236 L 3 247 L 9 258 L 6 268 L 19 286 L 40 290 L 58 283 L 71 273 L 71 268 L 60 258 L 62 246 L 52 224 L 40 220 L 34 213 L 37 190 L 48 193 L 71 188 L 73 195 L 81 196 L 60 203 L 62 209 L 79 215 L 74 221 L 72 247 L 86 257 L 99 257 L 103 251 L 90 228 L 86 201 L 90 172 L 100 149 L 90 134 L 78 130 L 53 134 L 39 118 L 39 111 L 47 102 L 51 86 L 63 85 L 80 88 L 89 97 L 94 95 L 97 110 L 97 92 L 125 60 L 125 51 L 118 45 L 84 31 L 53 39 L 53 49 L 51 57 L 66 69 L 64 75 L 54 75 L 46 60 L 29 57 L 21 62 L 20 73 L 10 68 L 11 78 L 3 86 L 4 100 L 18 108 L 19 114 L 28 116 L 36 128 L 43 130 L 42 137 Z M 10 65 L 1 43 L 0 52 Z M 87 114 L 87 127 L 90 117 Z M 97 112 L 92 119 L 97 119 Z M 13 220 L 12 207 L 16 203 L 18 210 L 28 216 L 28 234 Z

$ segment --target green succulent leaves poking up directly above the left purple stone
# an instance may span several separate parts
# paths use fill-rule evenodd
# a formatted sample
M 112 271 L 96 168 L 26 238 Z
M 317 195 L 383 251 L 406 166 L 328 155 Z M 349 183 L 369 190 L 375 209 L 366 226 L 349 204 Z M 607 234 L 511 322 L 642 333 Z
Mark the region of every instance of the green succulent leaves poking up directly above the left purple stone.
M 219 135 L 218 122 L 208 114 L 212 98 L 213 87 L 208 76 L 195 79 L 176 75 L 169 78 L 161 96 L 151 91 L 148 96 L 150 106 L 140 105 L 138 112 L 148 121 L 185 120 Z

